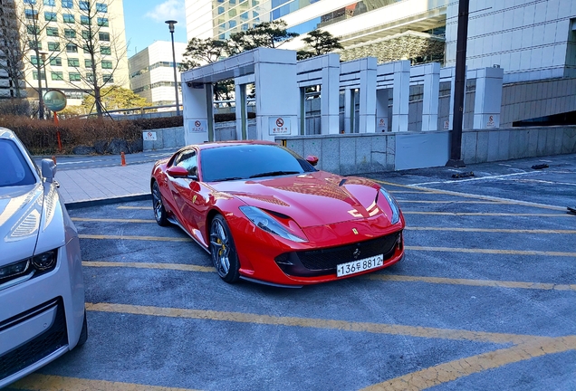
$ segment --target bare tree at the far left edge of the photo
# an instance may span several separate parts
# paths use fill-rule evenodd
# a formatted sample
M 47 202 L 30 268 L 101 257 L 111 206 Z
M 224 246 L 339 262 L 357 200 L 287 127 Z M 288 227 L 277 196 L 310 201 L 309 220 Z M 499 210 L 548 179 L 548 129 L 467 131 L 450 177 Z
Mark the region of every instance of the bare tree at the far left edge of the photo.
M 0 70 L 7 73 L 15 98 L 22 98 L 24 52 L 17 28 L 15 5 L 13 0 L 0 0 L 0 5 Z

